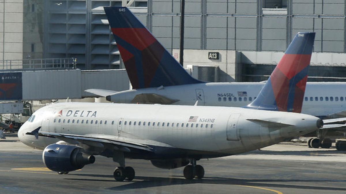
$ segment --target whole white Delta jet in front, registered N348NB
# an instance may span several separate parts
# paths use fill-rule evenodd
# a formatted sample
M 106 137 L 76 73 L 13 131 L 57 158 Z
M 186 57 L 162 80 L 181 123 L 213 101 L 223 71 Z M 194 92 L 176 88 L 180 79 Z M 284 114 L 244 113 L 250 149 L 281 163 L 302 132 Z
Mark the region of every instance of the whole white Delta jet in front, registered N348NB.
M 126 7 L 104 10 L 116 20 L 110 20 L 113 31 L 143 32 Z M 244 108 L 60 103 L 37 110 L 18 137 L 44 149 L 45 165 L 59 173 L 81 169 L 94 163 L 93 155 L 102 155 L 119 163 L 113 173 L 117 181 L 135 177 L 125 158 L 151 160 L 166 169 L 185 166 L 185 178 L 203 178 L 199 159 L 248 152 L 323 126 L 321 119 L 298 113 L 314 38 L 313 32 L 298 33 L 260 94 Z

